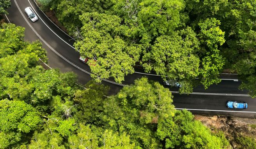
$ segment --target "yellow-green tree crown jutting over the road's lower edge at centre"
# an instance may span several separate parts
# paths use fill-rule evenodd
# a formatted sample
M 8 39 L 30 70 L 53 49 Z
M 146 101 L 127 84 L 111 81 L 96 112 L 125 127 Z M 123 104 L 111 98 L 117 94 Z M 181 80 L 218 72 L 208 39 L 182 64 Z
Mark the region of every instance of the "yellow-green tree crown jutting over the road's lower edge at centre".
M 174 114 L 169 89 L 165 89 L 158 82 L 149 82 L 146 77 L 135 80 L 132 87 L 124 87 L 117 94 L 117 98 L 122 101 L 122 105 L 130 105 L 139 110 L 142 124 L 154 122 L 156 117 Z

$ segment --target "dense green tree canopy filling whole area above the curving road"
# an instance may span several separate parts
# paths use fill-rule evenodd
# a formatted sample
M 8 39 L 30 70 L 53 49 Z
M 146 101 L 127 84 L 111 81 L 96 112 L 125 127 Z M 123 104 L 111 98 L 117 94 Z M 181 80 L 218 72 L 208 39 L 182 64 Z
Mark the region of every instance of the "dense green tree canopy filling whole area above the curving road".
M 219 83 L 223 69 L 239 74 L 241 89 L 256 96 L 255 0 L 48 0 L 77 40 L 80 55 L 94 58 L 92 77 L 122 82 L 135 64 L 180 92 L 199 82 Z M 199 78 L 199 80 L 195 80 Z

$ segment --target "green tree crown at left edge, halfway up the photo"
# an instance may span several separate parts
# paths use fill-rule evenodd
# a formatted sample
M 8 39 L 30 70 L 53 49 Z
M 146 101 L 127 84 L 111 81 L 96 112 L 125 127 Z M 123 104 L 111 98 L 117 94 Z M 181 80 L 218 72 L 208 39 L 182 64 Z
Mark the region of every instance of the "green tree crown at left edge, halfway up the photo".
M 9 99 L 27 99 L 33 85 L 27 82 L 31 68 L 29 61 L 38 60 L 36 55 L 10 55 L 0 59 L 0 97 Z

